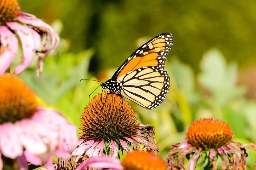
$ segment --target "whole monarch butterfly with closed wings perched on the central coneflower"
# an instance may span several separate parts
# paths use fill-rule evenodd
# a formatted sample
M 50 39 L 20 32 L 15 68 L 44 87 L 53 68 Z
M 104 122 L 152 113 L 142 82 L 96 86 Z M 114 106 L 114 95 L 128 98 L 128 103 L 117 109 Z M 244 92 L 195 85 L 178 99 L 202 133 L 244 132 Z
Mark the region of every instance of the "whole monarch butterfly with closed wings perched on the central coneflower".
M 144 108 L 157 108 L 170 88 L 164 65 L 172 44 L 171 33 L 151 39 L 132 53 L 101 87 L 108 88 L 108 94 L 126 97 Z

